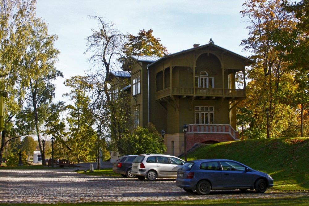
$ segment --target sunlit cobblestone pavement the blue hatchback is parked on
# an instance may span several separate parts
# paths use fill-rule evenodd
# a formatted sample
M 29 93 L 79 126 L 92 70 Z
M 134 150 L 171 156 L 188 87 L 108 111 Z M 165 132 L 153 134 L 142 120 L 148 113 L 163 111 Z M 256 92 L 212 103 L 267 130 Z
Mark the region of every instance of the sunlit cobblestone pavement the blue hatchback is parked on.
M 213 191 L 209 195 L 187 193 L 178 188 L 175 179 L 155 181 L 123 177 L 97 177 L 57 170 L 0 170 L 1 203 L 81 203 L 101 201 L 167 201 L 231 198 L 273 198 L 308 196 L 308 191 L 282 192 L 268 190 Z

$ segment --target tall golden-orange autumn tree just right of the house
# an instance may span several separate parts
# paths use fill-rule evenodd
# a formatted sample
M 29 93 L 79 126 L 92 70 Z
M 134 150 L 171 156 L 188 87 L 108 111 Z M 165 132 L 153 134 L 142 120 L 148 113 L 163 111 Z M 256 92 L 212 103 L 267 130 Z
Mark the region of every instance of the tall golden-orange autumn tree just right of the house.
M 252 52 L 250 58 L 255 65 L 247 69 L 247 100 L 239 107 L 246 107 L 255 117 L 250 128 L 265 128 L 265 110 L 269 108 L 271 137 L 280 136 L 289 124 L 293 105 L 292 93 L 294 74 L 282 58 L 285 51 L 276 50 L 278 41 L 273 41 L 273 31 L 279 29 L 292 31 L 297 23 L 293 14 L 285 11 L 281 0 L 247 0 L 240 13 L 248 23 L 249 38 L 242 40 L 245 51 Z M 241 110 L 242 108 L 239 108 Z M 264 130 L 266 132 L 266 130 Z

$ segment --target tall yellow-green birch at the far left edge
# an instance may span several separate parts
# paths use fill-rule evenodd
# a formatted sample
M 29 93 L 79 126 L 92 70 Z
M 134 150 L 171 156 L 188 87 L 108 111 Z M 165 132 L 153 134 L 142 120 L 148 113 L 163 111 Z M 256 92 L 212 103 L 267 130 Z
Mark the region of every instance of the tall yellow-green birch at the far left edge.
M 27 83 L 29 77 L 20 60 L 30 42 L 29 28 L 35 18 L 35 8 L 35 0 L 0 1 L 0 90 L 10 94 L 4 99 L 4 130 L 1 136 L 0 159 L 7 143 L 24 135 L 16 133 L 13 120 L 21 109 L 23 84 Z

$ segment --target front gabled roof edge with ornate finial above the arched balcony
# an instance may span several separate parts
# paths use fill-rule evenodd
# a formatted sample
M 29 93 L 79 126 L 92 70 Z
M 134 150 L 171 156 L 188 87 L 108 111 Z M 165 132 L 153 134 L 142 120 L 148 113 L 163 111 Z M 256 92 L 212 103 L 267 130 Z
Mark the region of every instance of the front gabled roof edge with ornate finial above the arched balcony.
M 246 63 L 245 63 L 246 66 L 247 66 L 247 65 L 250 65 L 250 64 L 253 64 L 253 63 L 255 62 L 255 61 L 253 61 L 253 60 L 251 60 L 251 59 L 249 59 L 249 58 L 247 58 L 247 57 L 241 56 L 241 55 L 239 55 L 239 54 L 237 54 L 237 53 L 235 53 L 235 52 L 231 52 L 230 50 L 227 50 L 227 49 L 225 49 L 225 48 L 219 47 L 219 46 L 215 45 L 213 42 L 210 41 L 209 44 L 205 44 L 205 45 L 202 45 L 202 46 L 199 46 L 199 47 L 195 47 L 195 48 L 190 48 L 190 49 L 187 49 L 187 50 L 183 50 L 183 51 L 181 51 L 181 52 L 176 52 L 176 53 L 169 54 L 169 55 L 167 55 L 167 56 L 161 57 L 161 58 L 159 58 L 157 61 L 154 61 L 154 62 L 152 62 L 151 64 L 149 64 L 149 65 L 147 65 L 147 66 L 154 65 L 154 64 L 156 64 L 157 62 L 162 61 L 163 59 L 167 59 L 167 58 L 170 58 L 170 57 L 174 57 L 174 56 L 176 56 L 176 55 L 180 55 L 180 54 L 183 54 L 183 53 L 188 53 L 188 52 L 191 52 L 191 51 L 194 51 L 194 50 L 197 50 L 197 49 L 207 48 L 207 47 L 218 48 L 218 49 L 220 49 L 220 50 L 222 50 L 222 51 L 225 51 L 225 52 L 227 52 L 227 53 L 230 53 L 231 55 L 237 56 L 237 57 L 243 59 L 244 61 L 246 61 Z

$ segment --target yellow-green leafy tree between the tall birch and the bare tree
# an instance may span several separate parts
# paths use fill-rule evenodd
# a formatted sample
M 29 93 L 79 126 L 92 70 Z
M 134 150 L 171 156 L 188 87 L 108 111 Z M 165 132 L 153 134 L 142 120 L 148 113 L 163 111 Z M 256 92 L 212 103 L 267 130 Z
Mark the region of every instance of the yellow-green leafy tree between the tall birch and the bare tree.
M 65 85 L 71 87 L 70 93 L 65 95 L 74 103 L 67 106 L 66 120 L 70 134 L 66 139 L 66 145 L 70 147 L 70 157 L 77 162 L 94 161 L 97 153 L 97 134 L 92 128 L 95 119 L 90 107 L 91 99 L 87 95 L 93 86 L 88 84 L 87 78 L 75 76 L 65 81 Z

